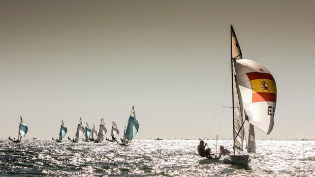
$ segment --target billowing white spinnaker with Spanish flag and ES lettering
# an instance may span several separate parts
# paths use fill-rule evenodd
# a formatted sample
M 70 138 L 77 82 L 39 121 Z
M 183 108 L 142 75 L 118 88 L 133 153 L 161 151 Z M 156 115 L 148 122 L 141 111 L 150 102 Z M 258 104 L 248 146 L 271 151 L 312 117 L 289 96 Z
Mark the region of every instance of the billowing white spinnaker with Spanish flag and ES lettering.
M 277 93 L 273 76 L 263 65 L 247 59 L 235 60 L 235 70 L 246 120 L 269 134 Z

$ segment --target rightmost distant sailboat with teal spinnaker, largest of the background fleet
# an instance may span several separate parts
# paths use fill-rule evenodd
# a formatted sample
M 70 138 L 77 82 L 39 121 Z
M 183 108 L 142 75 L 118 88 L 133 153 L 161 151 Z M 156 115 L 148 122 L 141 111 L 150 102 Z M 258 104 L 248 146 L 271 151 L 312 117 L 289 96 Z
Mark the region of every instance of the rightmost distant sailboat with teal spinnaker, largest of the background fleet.
M 131 140 L 138 133 L 138 130 L 139 130 L 139 123 L 136 119 L 135 108 L 132 107 L 130 117 L 128 120 L 127 129 L 125 129 L 124 131 L 122 144 L 120 145 L 128 146 L 128 144 L 131 143 Z

